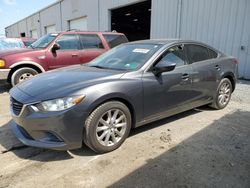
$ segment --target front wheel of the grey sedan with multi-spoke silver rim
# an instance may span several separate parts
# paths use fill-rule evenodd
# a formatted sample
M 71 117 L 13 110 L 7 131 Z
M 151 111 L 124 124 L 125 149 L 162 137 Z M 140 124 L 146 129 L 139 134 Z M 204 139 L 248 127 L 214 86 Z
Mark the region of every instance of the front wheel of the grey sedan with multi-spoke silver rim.
M 97 107 L 85 122 L 84 142 L 97 153 L 106 153 L 120 147 L 131 129 L 128 107 L 118 101 Z

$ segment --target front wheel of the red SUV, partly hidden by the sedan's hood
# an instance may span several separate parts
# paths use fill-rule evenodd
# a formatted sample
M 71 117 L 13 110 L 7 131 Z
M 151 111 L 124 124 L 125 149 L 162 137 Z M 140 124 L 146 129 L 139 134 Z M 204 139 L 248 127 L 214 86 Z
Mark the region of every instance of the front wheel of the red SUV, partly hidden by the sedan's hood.
M 25 80 L 32 78 L 33 76 L 37 75 L 38 72 L 35 69 L 29 67 L 23 67 L 17 69 L 11 76 L 11 85 L 15 86 Z

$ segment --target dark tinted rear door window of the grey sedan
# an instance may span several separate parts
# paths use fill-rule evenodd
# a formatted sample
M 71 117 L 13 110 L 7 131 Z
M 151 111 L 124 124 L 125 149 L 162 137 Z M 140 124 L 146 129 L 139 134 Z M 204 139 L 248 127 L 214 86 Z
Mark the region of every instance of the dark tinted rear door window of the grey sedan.
M 193 44 L 188 44 L 185 46 L 187 49 L 187 55 L 189 56 L 192 62 L 198 62 L 210 59 L 207 48 Z

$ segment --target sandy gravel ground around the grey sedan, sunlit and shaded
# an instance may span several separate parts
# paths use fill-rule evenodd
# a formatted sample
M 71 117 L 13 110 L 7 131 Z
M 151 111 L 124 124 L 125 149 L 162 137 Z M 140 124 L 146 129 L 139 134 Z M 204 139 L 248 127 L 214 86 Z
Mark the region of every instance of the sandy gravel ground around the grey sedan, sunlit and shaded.
M 207 107 L 145 125 L 116 151 L 51 151 L 22 145 L 9 129 L 0 83 L 2 187 L 250 187 L 250 82 L 227 108 Z

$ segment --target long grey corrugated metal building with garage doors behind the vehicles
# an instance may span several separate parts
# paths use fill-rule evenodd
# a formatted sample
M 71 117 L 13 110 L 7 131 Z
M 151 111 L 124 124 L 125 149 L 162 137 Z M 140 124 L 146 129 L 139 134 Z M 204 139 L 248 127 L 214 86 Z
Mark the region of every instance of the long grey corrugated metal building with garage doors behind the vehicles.
M 9 37 L 69 29 L 117 30 L 130 40 L 205 42 L 240 61 L 250 79 L 250 0 L 60 0 L 6 28 Z

